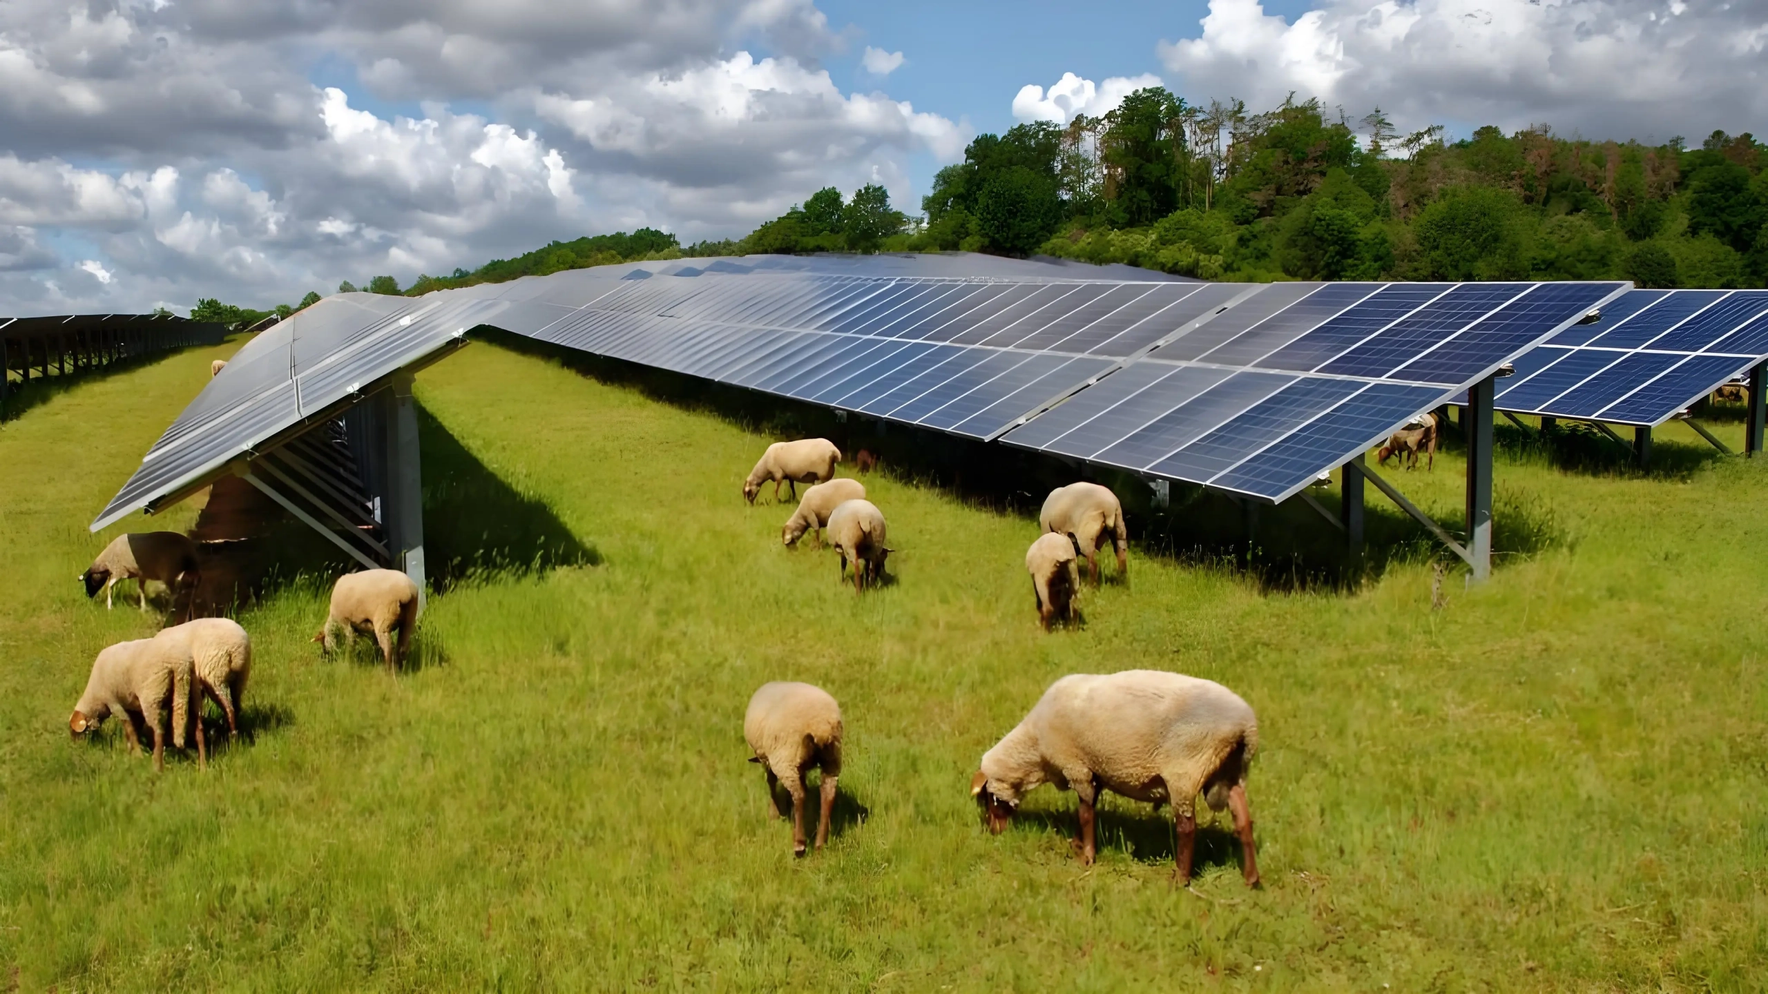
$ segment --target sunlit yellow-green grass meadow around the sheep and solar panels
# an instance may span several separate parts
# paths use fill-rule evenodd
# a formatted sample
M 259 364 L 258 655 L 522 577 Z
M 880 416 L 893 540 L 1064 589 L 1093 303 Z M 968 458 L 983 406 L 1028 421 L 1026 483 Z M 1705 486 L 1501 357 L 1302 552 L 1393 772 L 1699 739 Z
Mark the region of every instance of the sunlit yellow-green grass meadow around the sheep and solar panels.
M 780 547 L 787 508 L 743 504 L 766 433 L 477 345 L 417 384 L 446 580 L 419 665 L 322 660 L 329 577 L 285 575 L 240 614 L 249 741 L 154 776 L 113 725 L 65 734 L 97 649 L 157 624 L 74 575 L 230 348 L 0 423 L 0 989 L 1768 987 L 1768 460 L 1665 432 L 1637 472 L 1501 432 L 1501 545 L 1526 554 L 1483 587 L 1452 571 L 1439 610 L 1429 545 L 1370 492 L 1363 584 L 1181 538 L 1045 635 L 1024 511 L 870 476 L 900 552 L 856 598 L 833 554 Z M 1437 462 L 1395 476 L 1453 520 L 1460 460 Z M 1213 501 L 1139 527 L 1232 520 Z M 1299 573 L 1330 534 L 1307 508 L 1262 527 Z M 1073 794 L 981 830 L 983 750 L 1054 677 L 1132 667 L 1257 707 L 1264 890 L 1225 819 L 1192 891 L 1146 805 L 1101 807 L 1091 870 Z M 797 861 L 744 762 L 767 679 L 847 716 L 834 837 Z

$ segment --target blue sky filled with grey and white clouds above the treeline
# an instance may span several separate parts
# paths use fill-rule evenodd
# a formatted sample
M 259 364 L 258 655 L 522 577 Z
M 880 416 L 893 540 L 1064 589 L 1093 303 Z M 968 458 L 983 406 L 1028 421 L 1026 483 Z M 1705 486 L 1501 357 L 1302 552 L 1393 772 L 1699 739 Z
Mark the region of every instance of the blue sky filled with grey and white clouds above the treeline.
M 820 186 L 1140 85 L 1768 131 L 1764 0 L 0 0 L 0 315 L 269 306 Z

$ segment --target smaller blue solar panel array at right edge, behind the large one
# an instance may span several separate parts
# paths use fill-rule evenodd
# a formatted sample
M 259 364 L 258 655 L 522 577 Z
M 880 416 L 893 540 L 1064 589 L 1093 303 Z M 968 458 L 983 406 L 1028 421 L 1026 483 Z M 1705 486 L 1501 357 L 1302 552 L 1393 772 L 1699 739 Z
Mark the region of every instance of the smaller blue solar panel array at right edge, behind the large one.
M 1768 359 L 1768 290 L 1632 290 L 1520 356 L 1499 410 L 1662 424 Z

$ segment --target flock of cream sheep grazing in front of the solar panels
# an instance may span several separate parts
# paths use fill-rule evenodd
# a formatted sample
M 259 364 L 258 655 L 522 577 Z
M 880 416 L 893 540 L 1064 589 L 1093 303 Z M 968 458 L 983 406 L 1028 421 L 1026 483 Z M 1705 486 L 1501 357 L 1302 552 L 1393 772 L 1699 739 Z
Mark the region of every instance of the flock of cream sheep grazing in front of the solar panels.
M 797 497 L 797 483 L 810 488 L 781 527 L 785 545 L 815 531 L 819 541 L 840 554 L 842 580 L 849 564 L 854 589 L 884 578 L 884 513 L 866 501 L 857 479 L 834 478 L 842 453 L 826 439 L 778 442 L 767 447 L 743 483 L 751 504 L 764 483 L 773 481 Z M 861 460 L 863 463 L 868 460 Z M 1114 548 L 1117 571 L 1128 570 L 1128 531 L 1117 497 L 1096 483 L 1057 488 L 1040 513 L 1040 538 L 1025 554 L 1038 617 L 1045 628 L 1078 619 L 1078 559 L 1086 557 L 1098 584 L 1098 554 Z M 87 596 L 136 580 L 141 610 L 147 584 L 166 584 L 173 598 L 193 591 L 198 580 L 196 545 L 177 532 L 118 536 L 80 575 Z M 332 587 L 331 610 L 315 637 L 325 651 L 338 635 L 371 633 L 389 672 L 405 656 L 417 619 L 417 585 L 394 570 L 368 570 L 341 577 Z M 398 638 L 394 640 L 394 631 Z M 170 711 L 170 738 L 186 748 L 194 734 L 198 768 L 207 766 L 207 743 L 200 711 L 214 700 L 226 718 L 228 734 L 239 734 L 239 715 L 251 674 L 251 637 L 230 619 L 207 617 L 164 628 L 152 638 L 120 642 L 99 653 L 85 693 L 69 718 L 72 736 L 95 730 L 106 718 L 122 715 L 131 752 L 140 752 L 143 727 L 152 732 L 156 769 L 164 768 L 163 718 Z M 842 709 L 827 692 L 806 683 L 767 683 L 750 699 L 743 736 L 767 778 L 769 814 L 778 815 L 780 787 L 792 803 L 792 849 L 804 854 L 804 775 L 820 773 L 820 821 L 817 849 L 829 837 L 829 821 L 842 775 Z M 1252 707 L 1234 692 L 1197 677 L 1128 670 L 1110 676 L 1066 676 L 1043 693 L 1029 715 L 994 748 L 983 753 L 971 796 L 987 826 L 1001 833 L 1024 796 L 1041 784 L 1075 791 L 1080 799 L 1080 838 L 1075 849 L 1093 863 L 1094 805 L 1100 791 L 1137 801 L 1172 805 L 1179 845 L 1174 853 L 1177 879 L 1188 883 L 1195 847 L 1195 799 L 1211 810 L 1229 808 L 1243 851 L 1248 886 L 1259 883 L 1246 805 L 1246 769 L 1259 745 Z

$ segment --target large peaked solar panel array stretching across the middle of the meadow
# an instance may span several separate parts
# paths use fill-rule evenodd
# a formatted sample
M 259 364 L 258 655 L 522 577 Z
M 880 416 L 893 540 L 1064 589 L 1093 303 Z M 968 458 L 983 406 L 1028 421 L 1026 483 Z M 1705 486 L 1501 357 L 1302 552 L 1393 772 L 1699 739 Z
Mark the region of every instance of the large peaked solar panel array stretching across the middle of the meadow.
M 269 329 L 104 515 L 187 488 L 474 325 L 1280 501 L 1625 283 L 1276 283 L 990 256 L 612 265 Z

